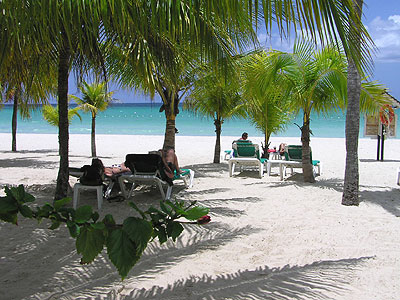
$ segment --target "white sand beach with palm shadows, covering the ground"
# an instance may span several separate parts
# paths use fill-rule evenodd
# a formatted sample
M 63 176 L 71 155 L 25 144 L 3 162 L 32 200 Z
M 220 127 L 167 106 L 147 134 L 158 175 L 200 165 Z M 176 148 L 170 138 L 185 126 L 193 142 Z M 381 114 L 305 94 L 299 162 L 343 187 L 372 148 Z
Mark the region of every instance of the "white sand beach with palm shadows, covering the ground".
M 97 152 L 111 165 L 159 149 L 163 138 L 98 135 Z M 222 149 L 234 138 L 223 137 Z M 0 134 L 0 186 L 24 184 L 38 203 L 51 202 L 58 137 L 17 139 L 13 153 L 11 134 Z M 300 137 L 272 138 L 271 145 L 282 142 L 300 144 Z M 214 145 L 214 137 L 177 136 L 180 165 L 195 179 L 191 189 L 173 189 L 173 197 L 209 207 L 212 221 L 185 226 L 177 243 L 152 242 L 124 281 L 105 251 L 80 265 L 65 227 L 52 231 L 23 218 L 18 226 L 0 223 L 0 299 L 399 299 L 399 139 L 385 142 L 383 162 L 376 161 L 377 141 L 360 139 L 359 207 L 341 205 L 344 139 L 312 138 L 313 158 L 322 162 L 315 184 L 301 173 L 280 181 L 276 168 L 262 179 L 250 171 L 230 178 L 225 161 L 211 163 Z M 88 163 L 90 136 L 70 135 L 70 166 Z M 158 205 L 159 195 L 144 188 L 129 201 L 146 208 Z M 100 214 L 121 221 L 133 213 L 127 203 L 104 201 Z M 80 204 L 96 207 L 95 193 Z

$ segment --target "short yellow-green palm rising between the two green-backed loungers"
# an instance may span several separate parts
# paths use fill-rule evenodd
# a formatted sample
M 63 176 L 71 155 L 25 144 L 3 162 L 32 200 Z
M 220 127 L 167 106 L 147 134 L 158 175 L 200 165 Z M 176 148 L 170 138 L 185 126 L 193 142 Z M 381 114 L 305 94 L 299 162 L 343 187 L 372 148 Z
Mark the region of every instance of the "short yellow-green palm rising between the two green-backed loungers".
M 276 53 L 251 54 L 245 57 L 241 68 L 243 97 L 247 100 L 244 109 L 247 118 L 264 133 L 264 153 L 268 149 L 271 134 L 284 130 L 290 120 L 287 101 L 289 89 L 284 87 L 285 81 L 279 78 L 269 80 Z

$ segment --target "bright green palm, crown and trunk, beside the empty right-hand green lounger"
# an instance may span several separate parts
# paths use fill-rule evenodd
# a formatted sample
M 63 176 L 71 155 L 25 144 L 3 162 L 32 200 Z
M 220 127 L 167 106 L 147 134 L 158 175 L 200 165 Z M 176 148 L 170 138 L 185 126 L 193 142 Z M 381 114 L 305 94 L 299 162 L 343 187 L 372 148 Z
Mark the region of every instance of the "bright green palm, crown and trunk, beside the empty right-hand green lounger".
M 302 166 L 306 182 L 314 182 L 310 162 L 310 116 L 313 111 L 327 114 L 345 107 L 347 101 L 347 61 L 337 47 L 316 50 L 309 42 L 297 42 L 293 53 L 274 55 L 271 78 L 285 79 L 284 88 L 290 87 L 291 107 L 303 114 L 301 129 Z M 272 80 L 271 79 L 271 80 Z M 384 88 L 366 83 L 362 91 L 363 109 L 373 112 L 384 99 Z

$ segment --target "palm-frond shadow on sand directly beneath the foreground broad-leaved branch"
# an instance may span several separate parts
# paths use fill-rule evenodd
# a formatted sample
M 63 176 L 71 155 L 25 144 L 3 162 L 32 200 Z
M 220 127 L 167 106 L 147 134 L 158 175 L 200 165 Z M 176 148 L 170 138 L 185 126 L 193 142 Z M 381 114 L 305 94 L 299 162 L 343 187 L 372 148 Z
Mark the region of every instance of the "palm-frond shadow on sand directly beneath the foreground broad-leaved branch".
M 47 276 L 42 275 L 35 280 L 36 291 L 42 290 L 35 294 L 35 299 L 77 299 L 75 295 L 104 297 L 116 285 L 127 286 L 132 282 L 135 285 L 134 282 L 138 279 L 151 279 L 157 273 L 171 268 L 199 251 L 216 250 L 232 240 L 256 231 L 258 229 L 249 226 L 231 230 L 217 223 L 204 227 L 186 225 L 184 235 L 175 243 L 168 241 L 161 246 L 158 242 L 151 243 L 123 282 L 121 282 L 115 267 L 106 257 L 105 250 L 94 263 L 80 265 L 79 256 L 68 246 L 66 253 L 64 251 L 58 253 L 58 260 L 52 262 L 55 259 L 53 255 L 51 259 L 43 262 L 47 266 Z M 43 250 L 41 249 L 41 251 Z M 62 266 L 60 266 L 60 260 Z M 19 288 L 21 291 L 26 291 L 23 296 L 32 296 L 29 291 L 35 290 L 35 287 L 24 287 L 26 284 L 29 282 L 21 283 Z

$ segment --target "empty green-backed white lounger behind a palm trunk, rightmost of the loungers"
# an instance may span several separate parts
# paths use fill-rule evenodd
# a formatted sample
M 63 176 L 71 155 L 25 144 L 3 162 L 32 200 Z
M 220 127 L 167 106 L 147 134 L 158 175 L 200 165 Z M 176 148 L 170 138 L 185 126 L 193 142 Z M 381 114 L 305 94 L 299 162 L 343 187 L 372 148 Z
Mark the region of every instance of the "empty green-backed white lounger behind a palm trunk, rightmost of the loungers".
M 314 177 L 321 175 L 321 162 L 319 160 L 312 159 L 312 151 L 310 148 L 310 160 L 313 165 Z M 288 145 L 285 149 L 285 160 L 279 162 L 279 175 L 280 179 L 283 180 L 286 175 L 286 169 L 290 168 L 291 174 L 293 169 L 303 168 L 302 163 L 302 146 L 301 145 Z

